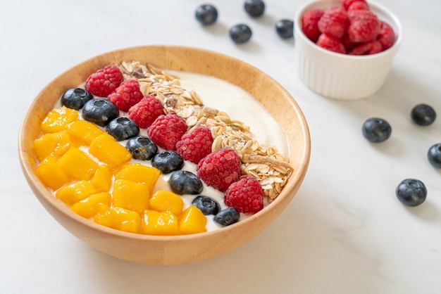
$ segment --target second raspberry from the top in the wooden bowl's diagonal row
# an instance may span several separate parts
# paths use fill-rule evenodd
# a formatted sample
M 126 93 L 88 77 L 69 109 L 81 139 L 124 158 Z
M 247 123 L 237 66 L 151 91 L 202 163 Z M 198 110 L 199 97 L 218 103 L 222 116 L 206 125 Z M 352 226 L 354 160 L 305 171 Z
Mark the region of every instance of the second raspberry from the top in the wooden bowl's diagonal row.
M 141 99 L 142 93 L 139 91 L 139 82 L 136 79 L 124 81 L 108 96 L 108 100 L 112 101 L 122 111 L 128 111 Z

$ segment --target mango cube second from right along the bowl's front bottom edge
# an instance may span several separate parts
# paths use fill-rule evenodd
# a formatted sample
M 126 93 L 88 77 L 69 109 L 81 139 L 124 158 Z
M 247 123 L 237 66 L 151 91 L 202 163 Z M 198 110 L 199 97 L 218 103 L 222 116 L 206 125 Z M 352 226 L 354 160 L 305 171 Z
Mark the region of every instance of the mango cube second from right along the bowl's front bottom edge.
M 156 236 L 179 235 L 178 217 L 169 211 L 146 210 L 142 215 L 142 233 Z

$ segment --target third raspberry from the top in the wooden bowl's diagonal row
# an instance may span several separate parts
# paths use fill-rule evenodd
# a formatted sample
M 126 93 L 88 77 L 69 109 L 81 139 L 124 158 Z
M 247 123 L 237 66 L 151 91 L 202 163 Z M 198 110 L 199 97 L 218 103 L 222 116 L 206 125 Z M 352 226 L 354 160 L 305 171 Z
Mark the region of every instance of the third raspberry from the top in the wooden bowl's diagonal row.
M 164 114 L 164 108 L 154 96 L 145 96 L 129 109 L 128 115 L 140 128 L 147 129 L 156 120 L 156 117 Z

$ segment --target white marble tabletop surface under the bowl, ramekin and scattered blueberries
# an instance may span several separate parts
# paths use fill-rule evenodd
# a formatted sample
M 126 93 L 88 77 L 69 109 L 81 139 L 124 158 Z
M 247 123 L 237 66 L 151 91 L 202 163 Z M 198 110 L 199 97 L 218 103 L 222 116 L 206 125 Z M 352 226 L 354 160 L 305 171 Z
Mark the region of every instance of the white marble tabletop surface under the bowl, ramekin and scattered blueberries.
M 242 1 L 212 0 L 220 18 L 207 29 L 194 19 L 202 2 L 16 0 L 0 10 L 1 293 L 440 293 L 441 170 L 426 152 L 441 141 L 441 2 L 381 1 L 402 21 L 402 49 L 378 94 L 355 102 L 317 96 L 297 79 L 294 41 L 279 39 L 273 24 L 304 0 L 268 0 L 260 20 L 244 14 Z M 241 22 L 254 36 L 236 46 L 228 28 Z M 161 267 L 99 253 L 50 217 L 20 170 L 19 124 L 44 85 L 89 57 L 144 44 L 198 46 L 251 63 L 290 91 L 309 122 L 311 164 L 290 206 L 212 260 Z M 409 118 L 422 102 L 439 114 L 430 127 Z M 392 124 L 385 143 L 361 135 L 371 116 Z M 398 202 L 406 177 L 424 181 L 426 203 Z

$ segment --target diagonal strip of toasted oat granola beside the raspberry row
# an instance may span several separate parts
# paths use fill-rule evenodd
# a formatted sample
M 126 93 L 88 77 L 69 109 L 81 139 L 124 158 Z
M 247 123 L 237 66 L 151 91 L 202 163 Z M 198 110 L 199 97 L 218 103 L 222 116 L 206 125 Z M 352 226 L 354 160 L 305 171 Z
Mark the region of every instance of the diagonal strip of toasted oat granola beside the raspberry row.
M 200 124 L 209 127 L 214 138 L 212 151 L 224 147 L 235 150 L 242 161 L 242 174 L 258 179 L 268 202 L 279 195 L 292 173 L 286 155 L 252 139 L 249 127 L 243 122 L 231 120 L 227 113 L 204 106 L 196 91 L 181 86 L 179 77 L 137 61 L 124 61 L 119 66 L 125 79 L 137 79 L 144 96 L 159 98 L 165 113 L 180 115 L 189 131 Z

